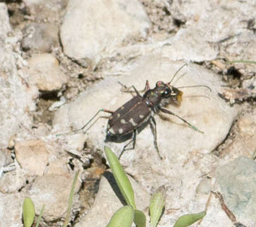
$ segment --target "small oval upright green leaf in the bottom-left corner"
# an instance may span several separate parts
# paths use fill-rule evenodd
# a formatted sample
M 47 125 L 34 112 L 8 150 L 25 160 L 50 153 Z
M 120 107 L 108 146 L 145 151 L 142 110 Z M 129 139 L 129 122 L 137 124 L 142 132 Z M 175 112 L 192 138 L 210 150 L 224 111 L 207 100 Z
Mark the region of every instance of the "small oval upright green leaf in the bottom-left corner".
M 25 197 L 22 208 L 23 223 L 25 227 L 30 227 L 34 223 L 35 206 L 29 197 Z

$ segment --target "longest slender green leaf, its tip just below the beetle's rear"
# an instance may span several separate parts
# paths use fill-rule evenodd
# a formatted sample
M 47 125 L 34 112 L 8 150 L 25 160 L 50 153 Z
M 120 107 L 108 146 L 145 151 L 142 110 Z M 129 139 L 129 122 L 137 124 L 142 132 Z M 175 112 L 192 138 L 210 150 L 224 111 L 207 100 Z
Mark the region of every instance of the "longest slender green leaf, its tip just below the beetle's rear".
M 136 209 L 133 188 L 131 187 L 130 180 L 126 176 L 125 170 L 123 170 L 121 164 L 119 163 L 116 154 L 114 154 L 113 151 L 107 147 L 104 149 L 107 156 L 107 161 L 109 161 L 114 179 L 118 184 L 121 194 L 125 198 L 127 204 L 132 206 L 133 209 Z

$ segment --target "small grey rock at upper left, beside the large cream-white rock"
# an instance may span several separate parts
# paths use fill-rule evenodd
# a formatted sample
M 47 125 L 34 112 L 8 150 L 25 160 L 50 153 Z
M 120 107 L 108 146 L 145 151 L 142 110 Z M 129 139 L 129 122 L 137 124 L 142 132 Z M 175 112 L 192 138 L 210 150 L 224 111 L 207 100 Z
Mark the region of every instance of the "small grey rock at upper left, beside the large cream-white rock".
M 30 23 L 23 28 L 23 50 L 51 52 L 58 44 L 58 26 L 47 23 Z

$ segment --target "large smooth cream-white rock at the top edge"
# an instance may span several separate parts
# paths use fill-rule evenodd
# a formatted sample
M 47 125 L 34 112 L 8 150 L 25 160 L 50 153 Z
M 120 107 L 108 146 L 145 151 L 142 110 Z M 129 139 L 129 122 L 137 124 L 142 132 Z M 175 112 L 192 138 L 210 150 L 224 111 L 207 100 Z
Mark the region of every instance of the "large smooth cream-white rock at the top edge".
M 145 37 L 149 28 L 149 18 L 137 0 L 71 0 L 61 26 L 61 42 L 66 55 L 82 66 L 95 66 L 126 39 Z

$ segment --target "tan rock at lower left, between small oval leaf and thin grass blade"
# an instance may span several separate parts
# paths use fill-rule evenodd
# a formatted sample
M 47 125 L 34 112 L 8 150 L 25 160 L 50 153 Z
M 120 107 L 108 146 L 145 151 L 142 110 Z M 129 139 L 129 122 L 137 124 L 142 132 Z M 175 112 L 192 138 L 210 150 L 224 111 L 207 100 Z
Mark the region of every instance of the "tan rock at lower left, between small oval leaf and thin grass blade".
M 46 175 L 37 177 L 27 195 L 32 199 L 37 214 L 45 204 L 43 218 L 45 221 L 56 221 L 66 216 L 68 199 L 73 178 L 63 175 Z M 80 183 L 76 182 L 75 192 Z

